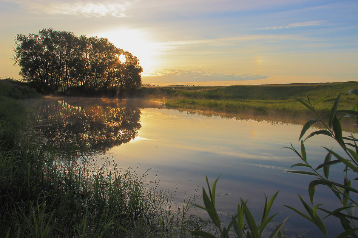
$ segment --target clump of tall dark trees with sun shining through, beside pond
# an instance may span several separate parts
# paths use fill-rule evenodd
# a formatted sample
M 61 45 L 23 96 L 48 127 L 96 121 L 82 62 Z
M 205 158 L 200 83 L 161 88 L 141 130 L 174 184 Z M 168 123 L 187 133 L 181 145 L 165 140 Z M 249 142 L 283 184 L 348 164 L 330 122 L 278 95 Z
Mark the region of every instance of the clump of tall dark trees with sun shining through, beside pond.
M 141 86 L 137 57 L 118 49 L 107 38 L 79 37 L 72 32 L 39 31 L 18 34 L 13 60 L 19 75 L 41 93 L 105 93 L 122 97 Z M 124 55 L 121 62 L 118 56 Z

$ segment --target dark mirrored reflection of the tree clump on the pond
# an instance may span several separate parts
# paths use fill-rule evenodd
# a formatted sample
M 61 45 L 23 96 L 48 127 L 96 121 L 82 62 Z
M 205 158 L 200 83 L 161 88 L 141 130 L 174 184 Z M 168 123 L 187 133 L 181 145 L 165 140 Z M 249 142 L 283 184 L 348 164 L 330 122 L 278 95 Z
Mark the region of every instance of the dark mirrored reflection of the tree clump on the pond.
M 34 108 L 35 138 L 56 151 L 105 153 L 134 139 L 140 108 L 121 103 L 48 100 Z

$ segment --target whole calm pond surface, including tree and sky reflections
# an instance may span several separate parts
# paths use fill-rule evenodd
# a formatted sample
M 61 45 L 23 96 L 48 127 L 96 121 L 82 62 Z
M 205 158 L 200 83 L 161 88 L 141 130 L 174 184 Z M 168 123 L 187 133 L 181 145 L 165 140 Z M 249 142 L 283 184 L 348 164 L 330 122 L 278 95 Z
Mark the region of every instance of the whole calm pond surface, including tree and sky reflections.
M 216 208 L 223 221 L 236 211 L 240 198 L 248 199 L 258 221 L 265 194 L 270 198 L 280 191 L 271 211 L 280 212 L 270 223 L 272 230 L 290 216 L 285 223 L 288 237 L 321 237 L 313 224 L 282 206 L 303 211 L 297 193 L 309 203 L 308 184 L 313 177 L 286 172 L 301 161 L 283 148 L 292 143 L 299 150 L 298 138 L 308 118 L 182 111 L 144 100 L 47 97 L 25 103 L 35 112 L 38 143 L 59 151 L 86 148 L 98 164 L 113 161 L 124 171 L 146 174 L 148 183 L 159 182 L 159 189 L 175 193 L 174 208 L 193 196 L 196 188 L 198 194 L 207 188 L 205 176 L 211 185 L 220 176 Z M 323 135 L 309 138 L 305 146 L 313 167 L 324 161 L 322 146 L 334 146 L 342 153 L 337 143 Z M 343 183 L 343 169 L 332 167 L 330 177 Z M 339 201 L 318 186 L 314 204 L 318 203 L 332 209 Z M 190 213 L 197 214 L 194 209 Z M 333 218 L 325 219 L 325 225 L 332 236 L 342 232 Z

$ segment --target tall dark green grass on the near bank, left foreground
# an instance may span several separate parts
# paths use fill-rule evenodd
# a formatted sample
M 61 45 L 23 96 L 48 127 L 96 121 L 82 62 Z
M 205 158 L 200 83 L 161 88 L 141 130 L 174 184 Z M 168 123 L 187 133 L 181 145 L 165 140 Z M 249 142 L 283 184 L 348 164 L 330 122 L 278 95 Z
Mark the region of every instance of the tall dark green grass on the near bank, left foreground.
M 195 218 L 185 215 L 197 197 L 173 212 L 173 194 L 135 171 L 33 145 L 21 134 L 21 105 L 9 98 L 0 105 L 3 237 L 192 237 L 187 226 Z M 20 113 L 6 112 L 10 106 Z

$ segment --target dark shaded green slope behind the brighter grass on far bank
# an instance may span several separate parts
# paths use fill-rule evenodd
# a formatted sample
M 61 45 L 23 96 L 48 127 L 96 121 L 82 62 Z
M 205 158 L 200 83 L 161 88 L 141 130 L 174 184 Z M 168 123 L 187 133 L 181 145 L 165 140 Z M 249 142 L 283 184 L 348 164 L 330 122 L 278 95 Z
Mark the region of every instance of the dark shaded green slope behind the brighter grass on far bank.
M 235 85 L 235 86 L 143 86 L 138 92 L 142 97 L 170 97 L 216 100 L 289 100 L 292 97 L 309 95 L 314 100 L 326 95 L 337 95 L 347 91 L 353 82 L 342 83 L 300 83 L 284 85 Z M 324 101 L 333 101 L 324 98 Z M 355 97 L 345 100 L 355 101 Z M 344 101 L 345 101 L 344 100 Z

